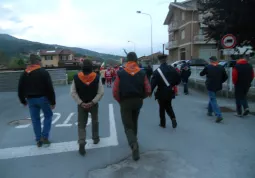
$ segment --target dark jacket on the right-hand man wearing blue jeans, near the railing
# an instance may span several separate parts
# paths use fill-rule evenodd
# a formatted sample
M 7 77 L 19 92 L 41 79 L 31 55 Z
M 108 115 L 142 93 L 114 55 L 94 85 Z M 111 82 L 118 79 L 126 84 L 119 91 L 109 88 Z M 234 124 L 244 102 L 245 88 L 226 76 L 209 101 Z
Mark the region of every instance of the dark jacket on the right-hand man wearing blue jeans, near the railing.
M 222 90 L 222 84 L 228 79 L 225 68 L 220 65 L 207 65 L 201 72 L 200 76 L 206 75 L 207 90 L 217 92 Z

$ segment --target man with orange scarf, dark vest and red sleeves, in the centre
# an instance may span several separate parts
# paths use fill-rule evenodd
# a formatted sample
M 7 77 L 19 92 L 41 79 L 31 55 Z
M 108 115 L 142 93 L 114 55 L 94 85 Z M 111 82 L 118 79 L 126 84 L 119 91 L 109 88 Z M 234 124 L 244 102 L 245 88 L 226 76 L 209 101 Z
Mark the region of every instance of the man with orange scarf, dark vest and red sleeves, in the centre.
M 137 141 L 138 116 L 143 99 L 151 93 L 149 80 L 144 70 L 137 64 L 136 53 L 127 55 L 127 64 L 119 70 L 113 87 L 113 97 L 120 103 L 121 118 L 132 156 L 135 161 L 140 159 Z

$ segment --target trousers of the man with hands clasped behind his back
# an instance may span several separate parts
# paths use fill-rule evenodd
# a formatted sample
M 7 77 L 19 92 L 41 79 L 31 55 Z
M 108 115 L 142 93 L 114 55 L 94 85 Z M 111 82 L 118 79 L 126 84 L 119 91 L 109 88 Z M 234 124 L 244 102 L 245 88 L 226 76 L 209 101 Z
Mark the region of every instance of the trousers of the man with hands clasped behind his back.
M 92 106 L 90 109 L 84 109 L 78 106 L 78 143 L 86 144 L 86 126 L 88 122 L 89 113 L 92 120 L 92 139 L 98 140 L 99 122 L 98 122 L 98 104 Z

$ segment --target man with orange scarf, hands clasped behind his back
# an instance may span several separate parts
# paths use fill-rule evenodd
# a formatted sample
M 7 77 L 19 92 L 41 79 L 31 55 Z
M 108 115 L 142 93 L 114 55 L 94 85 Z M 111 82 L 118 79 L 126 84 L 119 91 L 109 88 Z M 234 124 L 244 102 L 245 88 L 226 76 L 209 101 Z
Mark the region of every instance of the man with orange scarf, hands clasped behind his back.
M 98 102 L 104 95 L 104 87 L 100 76 L 92 71 L 91 60 L 83 61 L 82 72 L 74 76 L 71 86 L 71 96 L 78 104 L 78 143 L 79 153 L 86 154 L 86 125 L 88 114 L 92 117 L 92 139 L 94 144 L 98 144 L 99 122 L 98 122 Z

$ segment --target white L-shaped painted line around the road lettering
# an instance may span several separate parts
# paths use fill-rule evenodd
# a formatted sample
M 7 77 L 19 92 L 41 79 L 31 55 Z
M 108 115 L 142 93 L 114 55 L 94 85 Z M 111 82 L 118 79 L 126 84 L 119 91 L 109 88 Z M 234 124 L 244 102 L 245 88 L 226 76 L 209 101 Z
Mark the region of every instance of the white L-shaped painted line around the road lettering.
M 106 138 L 101 138 L 99 144 L 94 145 L 93 140 L 87 140 L 86 149 L 103 148 L 110 146 L 117 146 L 117 130 L 114 118 L 114 108 L 113 104 L 109 104 L 109 124 L 110 124 L 110 136 Z M 0 159 L 13 159 L 22 158 L 28 156 L 39 156 L 39 155 L 49 155 L 54 153 L 78 151 L 77 141 L 52 143 L 50 147 L 47 148 L 37 148 L 35 145 L 3 148 L 0 149 Z

